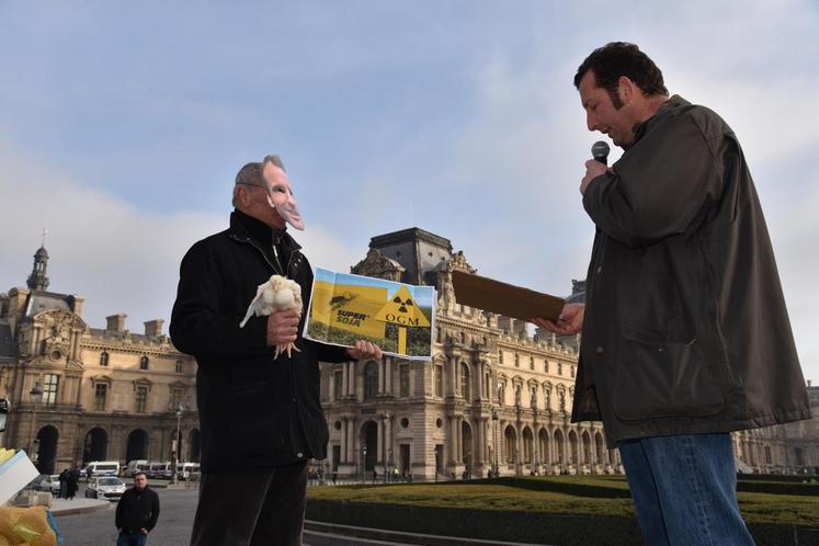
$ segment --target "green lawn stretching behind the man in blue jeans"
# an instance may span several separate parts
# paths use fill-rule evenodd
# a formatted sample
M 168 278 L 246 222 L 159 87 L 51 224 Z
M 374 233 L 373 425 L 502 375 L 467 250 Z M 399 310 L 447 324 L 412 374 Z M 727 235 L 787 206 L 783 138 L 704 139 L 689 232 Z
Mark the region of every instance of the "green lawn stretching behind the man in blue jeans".
M 817 525 L 819 485 L 740 479 L 738 498 L 748 523 Z M 311 499 L 473 510 L 634 516 L 623 476 L 545 476 L 440 484 L 312 487 Z

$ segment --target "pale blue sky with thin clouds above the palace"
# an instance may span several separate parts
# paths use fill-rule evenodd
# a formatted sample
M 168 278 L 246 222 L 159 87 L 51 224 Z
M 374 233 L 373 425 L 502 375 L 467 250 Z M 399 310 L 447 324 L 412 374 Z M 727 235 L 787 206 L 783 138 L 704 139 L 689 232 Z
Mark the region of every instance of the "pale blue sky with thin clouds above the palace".
M 227 227 L 238 169 L 275 152 L 314 266 L 420 227 L 479 274 L 568 295 L 601 138 L 572 78 L 627 41 L 739 136 L 819 380 L 817 27 L 814 0 L 0 0 L 0 292 L 47 228 L 49 289 L 86 297 L 90 326 L 169 320 L 180 259 Z

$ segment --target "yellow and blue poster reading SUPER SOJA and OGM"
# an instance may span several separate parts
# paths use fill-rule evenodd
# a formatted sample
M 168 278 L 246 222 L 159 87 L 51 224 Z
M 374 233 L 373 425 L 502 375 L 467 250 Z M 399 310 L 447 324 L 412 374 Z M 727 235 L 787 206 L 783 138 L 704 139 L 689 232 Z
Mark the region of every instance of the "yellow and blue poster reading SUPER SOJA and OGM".
M 432 357 L 435 321 L 432 286 L 317 269 L 304 337 L 332 345 L 377 343 L 385 354 Z

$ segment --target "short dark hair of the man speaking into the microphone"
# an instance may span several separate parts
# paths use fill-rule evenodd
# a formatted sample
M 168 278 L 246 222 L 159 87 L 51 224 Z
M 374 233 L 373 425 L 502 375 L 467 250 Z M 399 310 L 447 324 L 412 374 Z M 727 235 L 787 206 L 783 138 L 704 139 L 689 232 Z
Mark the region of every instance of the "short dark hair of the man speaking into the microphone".
M 635 44 L 627 42 L 611 42 L 598 47 L 589 55 L 575 75 L 575 87 L 580 89 L 580 80 L 585 72 L 594 72 L 594 80 L 599 88 L 603 88 L 612 98 L 615 109 L 623 106 L 617 94 L 617 79 L 625 76 L 647 95 L 669 94 L 662 81 L 662 71 L 648 55 L 640 52 Z

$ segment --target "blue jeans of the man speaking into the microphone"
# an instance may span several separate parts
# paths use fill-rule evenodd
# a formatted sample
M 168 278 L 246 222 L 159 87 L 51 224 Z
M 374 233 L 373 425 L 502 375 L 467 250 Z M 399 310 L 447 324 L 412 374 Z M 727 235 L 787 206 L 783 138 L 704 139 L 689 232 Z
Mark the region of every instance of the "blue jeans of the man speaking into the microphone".
M 634 440 L 619 453 L 647 545 L 753 545 L 728 434 Z

